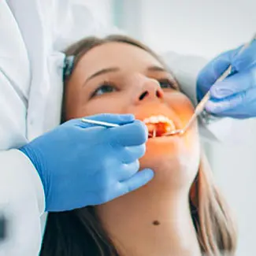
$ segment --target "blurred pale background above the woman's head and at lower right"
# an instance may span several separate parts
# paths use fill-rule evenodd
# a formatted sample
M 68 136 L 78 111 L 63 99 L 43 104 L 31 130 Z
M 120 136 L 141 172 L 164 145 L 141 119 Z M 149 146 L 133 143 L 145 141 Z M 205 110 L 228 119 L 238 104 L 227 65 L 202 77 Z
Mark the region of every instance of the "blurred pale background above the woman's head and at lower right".
M 246 42 L 256 32 L 255 0 L 94 0 L 92 5 L 97 3 L 102 5 L 98 13 L 103 22 L 117 25 L 161 52 L 172 50 L 210 59 Z M 243 121 L 248 130 L 253 123 Z M 255 141 L 255 147 L 206 146 L 214 176 L 238 219 L 237 256 L 253 256 L 256 136 L 251 131 L 244 138 Z

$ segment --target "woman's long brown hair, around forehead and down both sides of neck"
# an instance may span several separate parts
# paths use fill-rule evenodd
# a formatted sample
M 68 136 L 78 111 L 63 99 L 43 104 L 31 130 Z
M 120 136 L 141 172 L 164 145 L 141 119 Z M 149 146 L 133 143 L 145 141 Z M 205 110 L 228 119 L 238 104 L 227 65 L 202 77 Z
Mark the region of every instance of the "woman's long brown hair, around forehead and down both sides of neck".
M 154 54 L 143 43 L 124 35 L 110 35 L 105 39 L 90 37 L 80 40 L 65 51 L 66 55 L 73 55 L 73 69 L 83 54 L 95 46 L 109 42 L 132 44 Z M 161 61 L 161 63 L 163 63 Z M 65 77 L 65 85 L 69 83 Z M 65 94 L 64 94 L 65 101 Z M 63 104 L 64 106 L 64 104 Z M 62 121 L 65 121 L 63 107 Z M 202 254 L 209 256 L 233 255 L 236 250 L 236 228 L 231 214 L 221 197 L 217 187 L 213 184 L 210 165 L 202 154 L 198 174 L 190 191 L 191 217 L 198 236 Z M 43 246 L 40 256 L 118 256 L 113 242 L 102 228 L 95 208 L 87 206 L 80 210 L 61 213 L 49 213 Z

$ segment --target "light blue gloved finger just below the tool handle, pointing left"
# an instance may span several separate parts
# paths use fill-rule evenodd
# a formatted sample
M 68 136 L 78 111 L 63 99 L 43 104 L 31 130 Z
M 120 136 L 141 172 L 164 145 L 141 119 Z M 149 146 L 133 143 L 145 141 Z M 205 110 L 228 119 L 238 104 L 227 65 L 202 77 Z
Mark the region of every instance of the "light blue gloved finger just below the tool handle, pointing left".
M 210 95 L 212 98 L 226 98 L 247 91 L 251 87 L 256 87 L 256 65 L 252 69 L 237 72 L 225 80 L 213 84 L 210 88 Z

